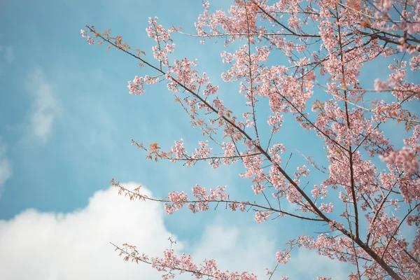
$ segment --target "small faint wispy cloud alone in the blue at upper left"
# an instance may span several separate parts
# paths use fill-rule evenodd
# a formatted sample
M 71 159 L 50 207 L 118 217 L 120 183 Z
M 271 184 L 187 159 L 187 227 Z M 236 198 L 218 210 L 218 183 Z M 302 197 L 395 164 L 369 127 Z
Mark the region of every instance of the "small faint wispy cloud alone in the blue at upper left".
M 61 107 L 52 92 L 52 85 L 45 80 L 41 69 L 37 69 L 29 75 L 27 90 L 34 96 L 33 109 L 29 120 L 29 134 L 45 143 L 48 140 L 55 118 L 61 112 Z

